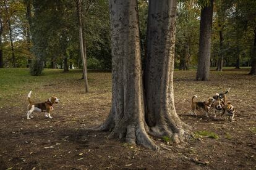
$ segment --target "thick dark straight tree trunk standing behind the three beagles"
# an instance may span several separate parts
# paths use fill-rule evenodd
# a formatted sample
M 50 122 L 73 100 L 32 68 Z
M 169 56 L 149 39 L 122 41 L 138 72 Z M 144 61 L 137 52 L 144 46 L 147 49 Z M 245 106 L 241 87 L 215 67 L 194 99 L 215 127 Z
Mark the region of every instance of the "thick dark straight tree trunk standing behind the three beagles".
M 203 7 L 200 19 L 199 55 L 196 80 L 208 81 L 211 58 L 211 25 L 213 20 L 213 0 Z

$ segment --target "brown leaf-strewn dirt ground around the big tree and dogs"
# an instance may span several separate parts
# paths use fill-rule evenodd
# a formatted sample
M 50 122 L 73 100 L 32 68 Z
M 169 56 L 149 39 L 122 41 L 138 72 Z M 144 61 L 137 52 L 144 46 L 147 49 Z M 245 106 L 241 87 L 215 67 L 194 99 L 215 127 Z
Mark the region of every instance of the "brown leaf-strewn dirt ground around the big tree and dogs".
M 161 147 L 158 152 L 109 140 L 109 132 L 87 130 L 108 115 L 110 73 L 89 73 L 88 94 L 83 93 L 80 73 L 69 73 L 67 81 L 45 75 L 42 84 L 30 81 L 9 99 L 0 98 L 6 102 L 0 109 L 0 169 L 256 169 L 256 77 L 246 73 L 211 71 L 210 81 L 197 82 L 195 71 L 176 71 L 174 97 L 182 121 L 194 132 L 213 132 L 219 138 L 170 142 L 164 148 L 163 139 L 155 139 Z M 203 111 L 189 115 L 192 95 L 205 100 L 228 87 L 228 100 L 237 110 L 233 123 L 213 115 L 206 118 Z M 59 97 L 53 119 L 43 113 L 26 119 L 30 89 L 35 101 L 44 101 L 49 94 Z

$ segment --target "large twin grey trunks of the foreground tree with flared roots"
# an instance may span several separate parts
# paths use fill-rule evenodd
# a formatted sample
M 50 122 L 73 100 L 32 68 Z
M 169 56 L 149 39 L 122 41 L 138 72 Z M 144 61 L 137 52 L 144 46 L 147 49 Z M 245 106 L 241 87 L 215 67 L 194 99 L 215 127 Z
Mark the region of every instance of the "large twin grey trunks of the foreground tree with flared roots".
M 174 142 L 189 139 L 173 97 L 176 1 L 150 1 L 143 97 L 137 0 L 109 1 L 112 38 L 112 107 L 98 129 L 156 150 L 147 133 Z M 127 17 L 128 16 L 128 17 Z M 144 99 L 147 101 L 144 104 Z M 145 111 L 146 108 L 146 111 Z

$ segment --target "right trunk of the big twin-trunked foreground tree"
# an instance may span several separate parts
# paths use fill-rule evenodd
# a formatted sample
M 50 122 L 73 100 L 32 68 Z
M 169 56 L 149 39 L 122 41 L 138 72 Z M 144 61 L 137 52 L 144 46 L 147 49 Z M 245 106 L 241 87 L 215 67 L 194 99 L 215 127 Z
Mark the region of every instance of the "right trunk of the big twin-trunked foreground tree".
M 144 75 L 146 121 L 150 134 L 172 137 L 175 142 L 189 137 L 187 126 L 174 107 L 173 71 L 176 1 L 150 1 L 147 58 Z

